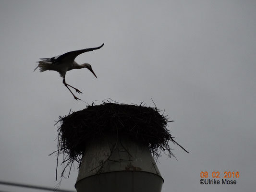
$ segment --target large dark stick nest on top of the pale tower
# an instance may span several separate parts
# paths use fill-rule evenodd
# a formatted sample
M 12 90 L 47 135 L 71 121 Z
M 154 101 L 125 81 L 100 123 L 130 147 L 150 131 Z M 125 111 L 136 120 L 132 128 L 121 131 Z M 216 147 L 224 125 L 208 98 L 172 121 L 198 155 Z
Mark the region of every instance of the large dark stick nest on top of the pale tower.
M 161 151 L 167 152 L 170 157 L 174 156 L 168 143 L 178 143 L 166 128 L 167 123 L 172 121 L 168 121 L 167 116 L 159 112 L 156 107 L 145 107 L 142 104 L 137 106 L 104 102 L 60 117 L 56 152 L 58 156 L 67 155 L 62 162 L 66 166 L 61 177 L 68 165 L 72 165 L 74 161 L 81 163 L 88 141 L 110 134 L 128 135 L 129 138 L 146 144 L 155 159 L 160 156 Z

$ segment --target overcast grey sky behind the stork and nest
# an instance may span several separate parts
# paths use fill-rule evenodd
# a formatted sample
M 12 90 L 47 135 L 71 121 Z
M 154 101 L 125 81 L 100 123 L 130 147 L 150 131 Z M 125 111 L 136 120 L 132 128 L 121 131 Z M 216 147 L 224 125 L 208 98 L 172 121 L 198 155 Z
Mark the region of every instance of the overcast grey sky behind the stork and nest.
M 165 110 L 177 145 L 158 168 L 162 192 L 252 192 L 256 188 L 255 0 L 0 0 L 0 180 L 55 187 L 57 126 L 82 110 L 39 58 L 82 54 L 66 75 L 77 95 L 145 102 Z M 60 168 L 61 169 L 61 168 Z M 201 185 L 200 172 L 239 171 L 236 185 Z M 77 170 L 61 188 L 74 190 Z M 0 185 L 2 191 L 29 190 Z M 33 190 L 30 190 L 31 192 Z

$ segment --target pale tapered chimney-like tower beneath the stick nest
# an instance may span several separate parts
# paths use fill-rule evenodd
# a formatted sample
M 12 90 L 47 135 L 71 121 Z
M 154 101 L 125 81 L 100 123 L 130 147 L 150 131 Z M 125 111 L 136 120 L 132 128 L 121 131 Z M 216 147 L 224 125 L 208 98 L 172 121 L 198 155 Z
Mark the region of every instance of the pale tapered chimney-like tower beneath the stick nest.
M 161 192 L 163 178 L 145 144 L 118 134 L 103 138 L 86 144 L 77 192 Z

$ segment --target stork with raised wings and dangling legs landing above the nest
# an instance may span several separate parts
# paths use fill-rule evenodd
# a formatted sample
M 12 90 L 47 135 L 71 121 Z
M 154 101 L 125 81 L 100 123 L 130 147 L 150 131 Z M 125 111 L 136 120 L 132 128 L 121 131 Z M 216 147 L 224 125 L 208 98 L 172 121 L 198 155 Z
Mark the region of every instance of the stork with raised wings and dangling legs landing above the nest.
M 63 55 L 58 55 L 58 56 L 52 57 L 52 58 L 42 58 L 42 59 L 40 59 L 40 61 L 37 61 L 39 64 L 36 67 L 36 69 L 39 67 L 40 72 L 44 72 L 47 70 L 59 72 L 61 77 L 63 78 L 62 83 L 72 93 L 75 100 L 80 100 L 73 94 L 73 92 L 70 90 L 69 87 L 73 88 L 79 94 L 82 92 L 79 91 L 77 88 L 66 83 L 66 80 L 65 80 L 66 72 L 73 70 L 73 69 L 87 68 L 97 78 L 96 74 L 92 70 L 92 66 L 89 63 L 83 63 L 83 64 L 79 65 L 77 62 L 74 61 L 74 59 L 82 53 L 102 48 L 103 45 L 104 45 L 104 43 L 101 46 L 99 46 L 98 48 L 85 48 L 85 49 L 81 49 L 81 50 L 70 51 L 70 52 L 64 53 Z M 36 69 L 34 70 L 34 72 L 36 71 Z

